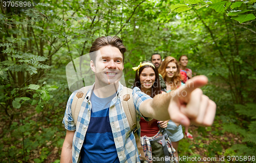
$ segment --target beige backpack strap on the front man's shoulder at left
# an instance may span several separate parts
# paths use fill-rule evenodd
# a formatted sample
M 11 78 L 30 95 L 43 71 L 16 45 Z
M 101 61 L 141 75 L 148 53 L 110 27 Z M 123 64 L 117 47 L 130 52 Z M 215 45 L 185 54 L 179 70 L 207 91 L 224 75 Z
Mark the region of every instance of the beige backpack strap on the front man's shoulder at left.
M 79 115 L 79 112 L 80 112 L 82 101 L 86 97 L 86 94 L 87 94 L 90 87 L 91 86 L 86 86 L 86 87 L 83 87 L 83 88 L 79 89 L 77 91 L 77 93 L 75 94 L 75 97 L 72 101 L 71 113 L 72 113 L 72 117 L 74 119 L 75 124 L 77 123 L 77 118 L 78 118 L 78 115 Z

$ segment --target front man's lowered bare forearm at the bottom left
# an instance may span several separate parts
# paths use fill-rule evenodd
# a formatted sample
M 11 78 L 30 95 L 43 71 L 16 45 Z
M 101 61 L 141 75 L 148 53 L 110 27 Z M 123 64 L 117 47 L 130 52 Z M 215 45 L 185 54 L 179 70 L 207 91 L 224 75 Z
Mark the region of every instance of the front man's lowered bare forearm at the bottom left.
M 75 131 L 67 130 L 65 141 L 62 146 L 60 163 L 72 163 L 72 143 Z

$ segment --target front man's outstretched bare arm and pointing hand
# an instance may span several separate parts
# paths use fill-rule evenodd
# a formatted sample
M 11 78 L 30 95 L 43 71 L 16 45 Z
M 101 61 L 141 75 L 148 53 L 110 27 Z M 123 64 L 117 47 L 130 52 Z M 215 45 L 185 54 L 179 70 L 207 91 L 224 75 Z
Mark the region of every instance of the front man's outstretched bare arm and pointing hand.
M 184 126 L 190 121 L 209 126 L 214 121 L 216 104 L 199 89 L 207 82 L 205 76 L 193 77 L 187 80 L 185 87 L 142 102 L 140 112 L 145 117 L 162 121 L 171 119 Z

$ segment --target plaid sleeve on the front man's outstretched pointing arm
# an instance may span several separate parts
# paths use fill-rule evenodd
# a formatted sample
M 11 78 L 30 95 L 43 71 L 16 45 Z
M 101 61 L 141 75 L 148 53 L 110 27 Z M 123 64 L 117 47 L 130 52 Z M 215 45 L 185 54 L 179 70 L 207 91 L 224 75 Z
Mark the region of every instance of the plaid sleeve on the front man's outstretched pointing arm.
M 141 103 L 144 102 L 147 99 L 152 99 L 152 98 L 150 96 L 148 96 L 147 94 L 141 92 L 138 87 L 134 87 L 134 89 L 133 89 L 133 102 L 134 102 L 134 106 L 136 108 L 136 112 L 140 115 L 140 117 L 143 117 L 146 121 L 151 121 L 152 118 L 144 117 L 140 113 L 140 110 L 139 110 Z

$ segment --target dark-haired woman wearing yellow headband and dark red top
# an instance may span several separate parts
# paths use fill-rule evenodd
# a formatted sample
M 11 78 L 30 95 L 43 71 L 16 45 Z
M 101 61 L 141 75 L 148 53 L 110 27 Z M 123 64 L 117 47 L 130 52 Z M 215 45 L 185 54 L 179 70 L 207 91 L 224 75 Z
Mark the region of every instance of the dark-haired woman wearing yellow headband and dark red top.
M 134 87 L 140 88 L 141 92 L 151 97 L 165 93 L 161 91 L 158 70 L 152 62 L 144 61 L 138 67 L 133 67 L 133 70 L 136 71 Z M 141 146 L 147 159 L 141 160 L 141 162 L 164 163 L 166 156 L 173 158 L 170 162 L 174 161 L 175 156 L 172 144 L 163 129 L 167 127 L 167 122 L 157 121 L 156 119 L 147 122 L 143 118 L 140 119 Z M 155 161 L 153 158 L 159 158 L 160 160 Z

